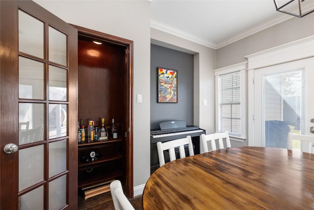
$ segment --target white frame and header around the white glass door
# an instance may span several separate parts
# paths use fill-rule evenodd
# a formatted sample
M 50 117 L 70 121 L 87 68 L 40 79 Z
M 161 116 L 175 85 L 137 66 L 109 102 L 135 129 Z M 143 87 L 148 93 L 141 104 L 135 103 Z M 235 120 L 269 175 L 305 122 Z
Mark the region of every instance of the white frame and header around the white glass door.
M 245 56 L 248 59 L 248 146 L 262 147 L 254 133 L 254 70 L 312 57 L 314 35 Z

